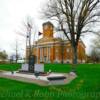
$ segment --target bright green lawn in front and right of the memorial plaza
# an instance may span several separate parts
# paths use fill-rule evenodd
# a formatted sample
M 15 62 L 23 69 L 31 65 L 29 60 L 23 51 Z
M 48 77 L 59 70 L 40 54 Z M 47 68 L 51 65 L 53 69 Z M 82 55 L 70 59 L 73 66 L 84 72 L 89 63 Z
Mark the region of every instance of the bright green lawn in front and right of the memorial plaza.
M 46 64 L 45 70 L 69 72 L 71 65 Z M 62 86 L 35 84 L 0 78 L 0 100 L 100 100 L 100 64 L 80 64 L 78 77 Z

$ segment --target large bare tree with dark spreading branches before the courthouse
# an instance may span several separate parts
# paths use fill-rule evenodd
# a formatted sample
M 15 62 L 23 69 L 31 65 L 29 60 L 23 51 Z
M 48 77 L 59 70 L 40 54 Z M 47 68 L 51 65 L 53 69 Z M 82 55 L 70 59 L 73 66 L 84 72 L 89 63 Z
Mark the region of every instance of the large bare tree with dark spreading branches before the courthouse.
M 95 32 L 90 28 L 99 23 L 99 0 L 48 0 L 42 14 L 56 20 L 73 49 L 73 64 L 77 64 L 77 46 L 83 33 Z

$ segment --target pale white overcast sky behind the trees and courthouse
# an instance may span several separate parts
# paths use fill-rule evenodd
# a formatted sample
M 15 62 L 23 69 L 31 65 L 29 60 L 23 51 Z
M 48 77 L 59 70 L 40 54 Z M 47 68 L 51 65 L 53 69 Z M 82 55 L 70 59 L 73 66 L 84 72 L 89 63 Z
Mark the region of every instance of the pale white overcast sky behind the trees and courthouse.
M 0 50 L 6 50 L 11 55 L 15 53 L 16 40 L 18 49 L 24 54 L 25 37 L 17 32 L 22 31 L 23 22 L 27 16 L 33 18 L 35 32 L 42 31 L 44 20 L 40 18 L 40 10 L 47 0 L 0 0 Z M 46 21 L 46 20 L 45 20 Z M 89 49 L 89 37 L 83 37 Z

